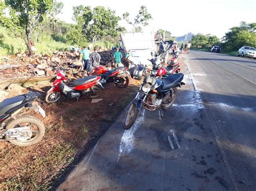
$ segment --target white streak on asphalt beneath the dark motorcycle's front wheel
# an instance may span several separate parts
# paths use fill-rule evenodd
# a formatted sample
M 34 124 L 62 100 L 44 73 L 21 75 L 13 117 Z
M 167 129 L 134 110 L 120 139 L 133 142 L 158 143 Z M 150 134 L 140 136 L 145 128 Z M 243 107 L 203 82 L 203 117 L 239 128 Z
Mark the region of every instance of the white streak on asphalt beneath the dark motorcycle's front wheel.
M 139 114 L 140 115 L 140 114 Z M 144 123 L 145 109 L 142 109 L 141 116 L 138 116 L 136 122 L 128 130 L 124 131 L 123 137 L 119 145 L 119 154 L 117 162 L 123 154 L 128 154 L 133 150 L 134 147 L 134 132 Z

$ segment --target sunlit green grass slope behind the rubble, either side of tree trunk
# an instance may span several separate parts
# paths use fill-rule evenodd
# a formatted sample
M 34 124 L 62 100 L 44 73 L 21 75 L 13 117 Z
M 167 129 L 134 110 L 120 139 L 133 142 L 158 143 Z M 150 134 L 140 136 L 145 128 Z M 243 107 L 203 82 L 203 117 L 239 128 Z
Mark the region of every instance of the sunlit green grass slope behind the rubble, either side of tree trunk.
M 51 54 L 53 51 L 64 51 L 69 49 L 69 44 L 53 40 L 51 36 L 43 34 L 38 41 L 33 39 L 37 48 L 37 54 Z M 0 26 L 0 55 L 11 55 L 17 52 L 26 52 L 24 40 L 16 38 L 9 30 Z

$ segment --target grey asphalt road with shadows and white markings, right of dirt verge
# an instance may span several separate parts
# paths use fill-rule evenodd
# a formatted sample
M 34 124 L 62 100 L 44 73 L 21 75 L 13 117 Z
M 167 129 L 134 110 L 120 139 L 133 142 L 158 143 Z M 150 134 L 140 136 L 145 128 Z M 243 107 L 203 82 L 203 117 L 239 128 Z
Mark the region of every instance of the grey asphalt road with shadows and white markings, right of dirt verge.
M 256 61 L 191 51 L 164 111 L 120 115 L 58 190 L 255 190 Z

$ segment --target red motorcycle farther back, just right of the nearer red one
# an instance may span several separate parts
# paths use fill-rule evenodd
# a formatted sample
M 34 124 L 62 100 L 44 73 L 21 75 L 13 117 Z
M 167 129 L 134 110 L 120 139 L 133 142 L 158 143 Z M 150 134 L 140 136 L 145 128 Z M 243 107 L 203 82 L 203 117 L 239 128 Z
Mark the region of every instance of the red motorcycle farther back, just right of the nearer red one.
M 114 83 L 119 88 L 125 88 L 129 84 L 129 72 L 125 67 L 117 67 L 111 70 L 108 70 L 104 66 L 94 67 L 93 71 L 89 75 L 97 75 L 102 77 L 100 83 Z

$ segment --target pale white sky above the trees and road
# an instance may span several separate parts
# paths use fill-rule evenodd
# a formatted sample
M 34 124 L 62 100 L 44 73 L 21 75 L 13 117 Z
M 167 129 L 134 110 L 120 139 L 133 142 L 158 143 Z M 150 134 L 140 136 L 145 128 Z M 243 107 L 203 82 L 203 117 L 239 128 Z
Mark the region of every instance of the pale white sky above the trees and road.
M 84 5 L 105 6 L 116 10 L 117 16 L 124 12 L 130 13 L 133 19 L 140 6 L 145 5 L 153 19 L 144 30 L 156 32 L 158 29 L 170 31 L 172 36 L 183 36 L 188 32 L 193 34 L 212 34 L 219 38 L 225 35 L 231 27 L 238 26 L 240 22 L 256 22 L 256 0 L 169 0 L 169 1 L 114 1 L 114 0 L 58 0 L 64 3 L 61 20 L 74 23 L 72 20 L 73 6 Z M 131 30 L 125 20 L 119 22 L 126 30 Z

